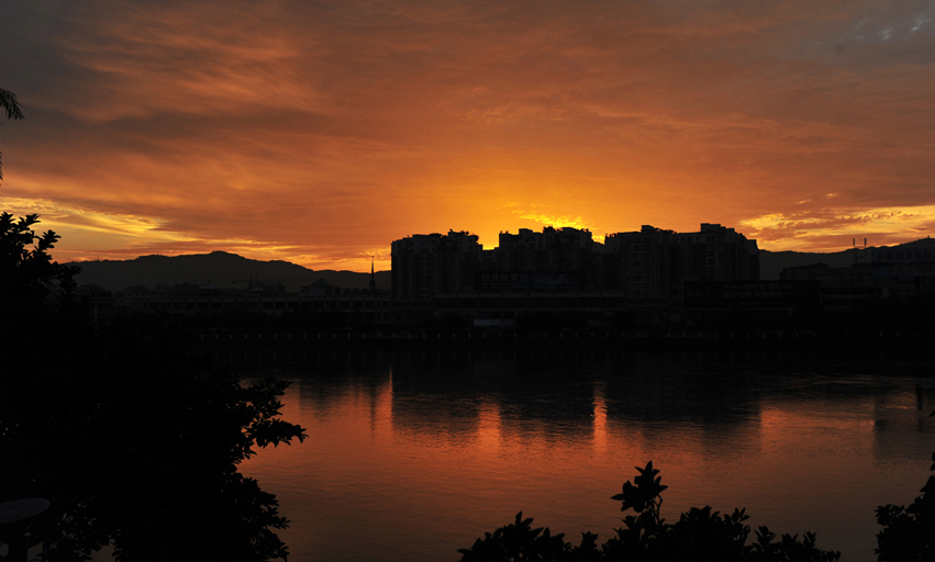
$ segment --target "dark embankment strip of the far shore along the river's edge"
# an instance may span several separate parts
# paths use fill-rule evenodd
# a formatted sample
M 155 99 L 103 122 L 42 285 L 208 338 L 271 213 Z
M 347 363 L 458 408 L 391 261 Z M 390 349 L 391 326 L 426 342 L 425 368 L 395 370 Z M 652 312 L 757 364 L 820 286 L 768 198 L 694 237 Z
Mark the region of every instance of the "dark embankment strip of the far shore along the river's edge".
M 593 336 L 591 336 L 593 334 Z M 679 333 L 681 334 L 681 333 Z M 577 337 L 576 337 L 577 335 Z M 468 337 L 469 336 L 469 337 Z M 749 337 L 746 337 L 749 336 Z M 329 357 L 367 355 L 370 352 L 416 352 L 419 355 L 459 355 L 494 352 L 534 355 L 536 357 L 622 358 L 669 352 L 723 355 L 727 358 L 754 356 L 799 357 L 803 361 L 876 362 L 899 366 L 933 366 L 930 350 L 935 335 L 882 333 L 876 337 L 821 337 L 749 334 L 741 337 L 698 336 L 688 333 L 637 335 L 612 331 L 522 334 L 522 333 L 321 333 L 321 334 L 197 334 L 192 350 L 213 356 L 224 366 L 278 367 L 316 363 Z M 935 373 L 935 370 L 927 370 Z

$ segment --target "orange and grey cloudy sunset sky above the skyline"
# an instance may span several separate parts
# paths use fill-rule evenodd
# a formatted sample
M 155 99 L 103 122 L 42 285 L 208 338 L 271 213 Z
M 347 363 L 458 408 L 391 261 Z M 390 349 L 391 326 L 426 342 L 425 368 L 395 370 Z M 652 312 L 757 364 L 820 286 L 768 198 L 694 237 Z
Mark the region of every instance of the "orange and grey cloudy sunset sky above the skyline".
M 0 0 L 0 210 L 59 261 L 720 223 L 935 231 L 935 2 Z

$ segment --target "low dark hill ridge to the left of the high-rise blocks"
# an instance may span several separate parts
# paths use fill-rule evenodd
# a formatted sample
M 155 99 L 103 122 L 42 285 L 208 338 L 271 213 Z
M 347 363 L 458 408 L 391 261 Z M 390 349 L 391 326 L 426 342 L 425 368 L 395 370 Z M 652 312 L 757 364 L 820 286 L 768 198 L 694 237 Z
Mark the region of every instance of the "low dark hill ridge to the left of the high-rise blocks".
M 211 283 L 218 289 L 248 289 L 256 284 L 281 284 L 288 292 L 324 279 L 332 285 L 347 289 L 365 289 L 370 282 L 369 273 L 355 271 L 315 271 L 288 261 L 260 261 L 226 251 L 194 254 L 188 256 L 141 256 L 129 260 L 78 261 L 69 263 L 81 268 L 76 278 L 79 284 L 94 284 L 109 291 L 143 285 L 155 289 L 165 283 Z M 375 274 L 378 289 L 390 288 L 390 272 Z

